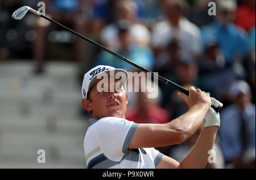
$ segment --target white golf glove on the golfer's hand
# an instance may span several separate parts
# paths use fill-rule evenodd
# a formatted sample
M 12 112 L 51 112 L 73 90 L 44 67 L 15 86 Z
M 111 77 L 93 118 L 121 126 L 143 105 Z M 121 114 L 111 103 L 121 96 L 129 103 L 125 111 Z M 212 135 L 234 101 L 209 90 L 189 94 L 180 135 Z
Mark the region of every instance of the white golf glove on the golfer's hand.
M 212 106 L 214 107 L 222 107 L 223 104 L 216 100 L 215 98 L 210 98 L 212 99 Z M 204 127 L 212 126 L 212 125 L 217 125 L 220 127 L 220 113 L 216 112 L 212 107 L 209 108 L 207 111 L 207 114 L 204 117 Z

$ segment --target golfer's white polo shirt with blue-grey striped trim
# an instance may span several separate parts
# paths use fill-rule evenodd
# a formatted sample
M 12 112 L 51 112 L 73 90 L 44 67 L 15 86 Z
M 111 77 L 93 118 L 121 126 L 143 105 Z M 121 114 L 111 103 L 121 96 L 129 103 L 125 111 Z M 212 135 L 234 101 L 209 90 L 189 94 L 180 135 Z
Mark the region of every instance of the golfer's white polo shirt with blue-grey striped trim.
M 90 119 L 84 139 L 87 168 L 152 169 L 163 154 L 155 148 L 128 149 L 137 123 L 122 118 Z

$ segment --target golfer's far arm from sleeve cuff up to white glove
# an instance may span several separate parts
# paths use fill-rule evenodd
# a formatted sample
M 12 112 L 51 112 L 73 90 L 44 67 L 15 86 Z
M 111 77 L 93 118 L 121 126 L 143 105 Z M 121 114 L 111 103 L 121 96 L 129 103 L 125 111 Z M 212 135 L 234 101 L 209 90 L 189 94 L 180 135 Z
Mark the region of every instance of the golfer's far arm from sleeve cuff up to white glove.
M 171 157 L 164 156 L 156 168 L 205 168 L 209 157 L 208 151 L 213 147 L 217 130 L 217 125 L 204 127 L 196 145 L 187 154 L 187 156 L 181 160 L 181 162 L 177 162 Z

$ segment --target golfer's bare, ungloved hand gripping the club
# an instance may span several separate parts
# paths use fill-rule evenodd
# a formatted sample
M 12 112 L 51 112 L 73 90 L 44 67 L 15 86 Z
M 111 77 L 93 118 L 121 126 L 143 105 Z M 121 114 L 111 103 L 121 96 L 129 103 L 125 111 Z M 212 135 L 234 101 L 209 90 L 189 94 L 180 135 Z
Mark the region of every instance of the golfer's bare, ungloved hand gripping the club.
M 208 108 L 211 105 L 210 95 L 201 91 L 200 89 L 195 89 L 191 86 L 189 88 L 189 96 L 184 93 L 178 92 L 181 98 L 188 104 L 189 107 L 192 107 L 195 104 L 205 104 Z

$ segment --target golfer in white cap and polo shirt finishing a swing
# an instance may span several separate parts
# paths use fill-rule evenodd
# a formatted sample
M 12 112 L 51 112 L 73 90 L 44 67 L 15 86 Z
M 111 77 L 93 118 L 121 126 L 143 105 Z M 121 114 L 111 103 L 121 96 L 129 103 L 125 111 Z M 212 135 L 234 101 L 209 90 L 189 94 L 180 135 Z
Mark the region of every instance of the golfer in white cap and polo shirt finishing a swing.
M 125 119 L 127 77 L 125 70 L 105 65 L 84 76 L 82 106 L 92 116 L 84 139 L 87 168 L 204 168 L 220 127 L 220 115 L 210 106 L 222 103 L 190 87 L 189 96 L 177 93 L 189 106 L 185 114 L 166 124 L 137 124 Z M 183 143 L 203 122 L 196 145 L 180 162 L 155 149 Z

